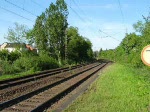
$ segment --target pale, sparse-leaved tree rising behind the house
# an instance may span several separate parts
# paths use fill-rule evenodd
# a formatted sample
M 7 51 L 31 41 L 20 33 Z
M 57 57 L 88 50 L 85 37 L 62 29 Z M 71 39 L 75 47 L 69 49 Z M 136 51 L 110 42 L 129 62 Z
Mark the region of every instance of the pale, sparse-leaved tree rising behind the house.
M 28 28 L 25 25 L 14 23 L 13 28 L 8 28 L 8 33 L 5 35 L 5 39 L 13 43 L 26 43 Z

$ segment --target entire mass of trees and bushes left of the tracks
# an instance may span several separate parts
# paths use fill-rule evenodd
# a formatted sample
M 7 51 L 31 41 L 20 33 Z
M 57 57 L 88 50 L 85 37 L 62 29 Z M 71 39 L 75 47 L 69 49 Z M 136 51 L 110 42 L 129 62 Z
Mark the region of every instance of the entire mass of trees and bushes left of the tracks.
M 37 53 L 21 50 L 0 51 L 2 77 L 36 72 L 93 60 L 92 43 L 68 26 L 68 9 L 64 0 L 57 0 L 39 15 L 32 29 L 18 23 L 8 29 L 5 39 L 10 43 L 30 44 Z M 5 76 L 4 76 L 5 75 Z M 1 77 L 0 77 L 1 78 Z

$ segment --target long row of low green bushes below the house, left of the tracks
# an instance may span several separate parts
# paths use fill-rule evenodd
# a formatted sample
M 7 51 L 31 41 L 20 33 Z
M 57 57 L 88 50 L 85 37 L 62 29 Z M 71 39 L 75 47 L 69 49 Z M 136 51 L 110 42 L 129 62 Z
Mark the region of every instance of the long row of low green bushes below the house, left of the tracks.
M 48 55 L 20 57 L 13 63 L 8 60 L 0 61 L 2 74 L 13 74 L 25 71 L 42 71 L 59 67 L 58 62 Z

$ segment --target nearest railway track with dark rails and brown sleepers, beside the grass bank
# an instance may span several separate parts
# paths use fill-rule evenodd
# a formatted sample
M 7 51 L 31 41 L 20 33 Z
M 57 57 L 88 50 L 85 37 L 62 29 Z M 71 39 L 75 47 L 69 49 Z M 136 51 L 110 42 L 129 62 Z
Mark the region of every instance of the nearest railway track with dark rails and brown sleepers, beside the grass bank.
M 24 92 L 24 94 L 20 92 L 21 94 L 15 98 L 13 95 L 10 95 L 9 97 L 9 94 L 6 96 L 1 94 L 1 96 L 3 96 L 2 99 L 7 100 L 4 100 L 0 103 L 0 110 L 3 112 L 43 111 L 47 107 L 50 107 L 53 103 L 57 102 L 58 99 L 65 96 L 68 92 L 86 81 L 106 64 L 107 63 L 89 64 L 80 68 L 66 71 L 64 73 L 58 73 L 56 75 L 46 77 L 43 80 L 38 80 L 34 83 L 34 85 L 42 83 L 41 86 L 38 86 L 39 88 L 33 89 L 33 87 L 31 87 L 33 89 L 32 91 Z M 47 82 L 45 83 L 45 81 Z M 27 84 L 30 85 L 31 82 Z

